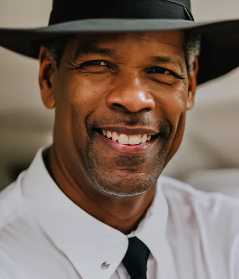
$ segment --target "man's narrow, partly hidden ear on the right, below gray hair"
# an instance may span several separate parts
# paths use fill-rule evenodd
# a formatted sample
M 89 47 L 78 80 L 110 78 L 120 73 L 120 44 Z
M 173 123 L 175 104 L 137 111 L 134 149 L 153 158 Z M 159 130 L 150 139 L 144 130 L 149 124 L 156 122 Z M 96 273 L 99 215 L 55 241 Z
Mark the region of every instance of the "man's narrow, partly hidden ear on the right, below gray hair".
M 195 58 L 193 73 L 189 78 L 187 110 L 194 107 L 195 93 L 197 89 L 198 58 Z

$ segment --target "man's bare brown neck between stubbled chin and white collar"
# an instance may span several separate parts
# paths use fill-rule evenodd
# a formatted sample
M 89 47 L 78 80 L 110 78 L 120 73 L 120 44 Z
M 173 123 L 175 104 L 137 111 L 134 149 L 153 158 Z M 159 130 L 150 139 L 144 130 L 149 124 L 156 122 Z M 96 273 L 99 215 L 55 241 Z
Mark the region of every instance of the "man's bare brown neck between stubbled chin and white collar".
M 88 214 L 124 234 L 137 228 L 153 201 L 156 183 L 141 195 L 112 196 L 92 187 L 85 175 L 74 172 L 74 168 L 71 168 L 70 172 L 64 161 L 54 146 L 51 146 L 45 158 L 46 167 L 66 196 Z

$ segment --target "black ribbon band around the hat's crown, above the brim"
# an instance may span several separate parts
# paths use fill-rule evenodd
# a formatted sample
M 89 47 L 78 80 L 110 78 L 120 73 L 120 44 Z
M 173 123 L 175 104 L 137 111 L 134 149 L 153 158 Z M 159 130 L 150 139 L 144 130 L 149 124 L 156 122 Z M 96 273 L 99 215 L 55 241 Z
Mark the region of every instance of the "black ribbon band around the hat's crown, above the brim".
M 80 2 L 80 3 L 79 3 Z M 49 25 L 81 19 L 182 19 L 194 21 L 189 9 L 169 0 L 90 0 L 76 1 L 70 6 L 55 5 L 50 14 Z

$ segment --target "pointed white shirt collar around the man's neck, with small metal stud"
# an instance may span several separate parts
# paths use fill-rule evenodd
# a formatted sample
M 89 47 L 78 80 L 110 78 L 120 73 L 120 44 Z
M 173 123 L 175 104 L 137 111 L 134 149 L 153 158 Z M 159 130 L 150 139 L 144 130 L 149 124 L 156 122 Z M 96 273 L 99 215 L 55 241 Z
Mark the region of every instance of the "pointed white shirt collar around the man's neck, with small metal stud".
M 73 203 L 54 183 L 42 159 L 44 147 L 38 150 L 22 179 L 23 198 L 51 241 L 73 263 L 83 279 L 108 279 L 124 258 L 127 236 L 89 215 Z M 167 222 L 167 203 L 161 191 L 157 194 L 135 235 L 159 260 Z M 107 269 L 101 265 L 106 262 Z

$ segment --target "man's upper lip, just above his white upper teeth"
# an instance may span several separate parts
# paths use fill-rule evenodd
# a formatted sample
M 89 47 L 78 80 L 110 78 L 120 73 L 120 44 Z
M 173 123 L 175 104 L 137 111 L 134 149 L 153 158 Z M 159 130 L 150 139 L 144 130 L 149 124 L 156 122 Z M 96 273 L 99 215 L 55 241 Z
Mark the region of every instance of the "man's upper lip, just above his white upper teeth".
M 138 135 L 138 134 L 147 134 L 147 135 L 156 135 L 159 131 L 144 128 L 144 127 L 126 127 L 126 126 L 107 126 L 107 127 L 99 127 L 99 129 L 103 129 L 106 131 L 118 132 L 120 134 L 126 135 Z

